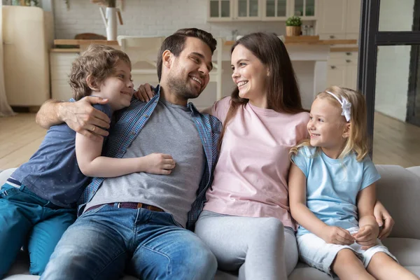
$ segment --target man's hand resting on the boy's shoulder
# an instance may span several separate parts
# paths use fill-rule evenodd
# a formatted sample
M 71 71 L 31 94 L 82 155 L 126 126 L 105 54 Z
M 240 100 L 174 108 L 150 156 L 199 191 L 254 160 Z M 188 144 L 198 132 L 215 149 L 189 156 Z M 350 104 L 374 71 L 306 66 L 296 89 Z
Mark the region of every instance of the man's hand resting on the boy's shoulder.
M 101 97 L 84 97 L 77 102 L 62 102 L 58 107 L 58 117 L 69 127 L 93 140 L 100 140 L 109 133 L 103 128 L 109 128 L 111 120 L 106 113 L 94 109 L 92 104 L 106 104 L 108 99 Z

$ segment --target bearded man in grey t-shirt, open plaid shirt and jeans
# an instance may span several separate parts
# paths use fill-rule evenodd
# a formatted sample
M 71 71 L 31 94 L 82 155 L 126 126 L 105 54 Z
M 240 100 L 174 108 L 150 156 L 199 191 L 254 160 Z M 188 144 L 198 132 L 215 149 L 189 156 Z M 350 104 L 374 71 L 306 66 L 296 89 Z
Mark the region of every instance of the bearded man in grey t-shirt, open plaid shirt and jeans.
M 118 279 L 125 266 L 139 279 L 214 278 L 216 258 L 190 230 L 211 185 L 221 123 L 187 101 L 209 83 L 215 48 L 216 40 L 200 29 L 180 29 L 165 39 L 156 95 L 147 103 L 132 100 L 105 150 L 114 158 L 165 153 L 176 167 L 170 175 L 93 179 L 80 197 L 81 216 L 57 244 L 41 279 Z M 90 102 L 98 100 L 48 102 L 37 122 L 48 127 L 65 121 L 86 136 L 106 134 L 99 127 L 109 120 Z

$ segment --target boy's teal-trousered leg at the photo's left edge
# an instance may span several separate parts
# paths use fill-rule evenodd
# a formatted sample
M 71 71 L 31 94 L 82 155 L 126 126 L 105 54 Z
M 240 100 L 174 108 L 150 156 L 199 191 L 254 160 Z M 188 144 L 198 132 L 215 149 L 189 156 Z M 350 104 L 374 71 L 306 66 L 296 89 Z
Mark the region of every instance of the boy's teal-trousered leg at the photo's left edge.
M 2 189 L 0 195 L 0 279 L 3 279 L 25 243 L 31 221 L 24 215 L 25 209 L 8 200 L 20 195 L 18 189 Z

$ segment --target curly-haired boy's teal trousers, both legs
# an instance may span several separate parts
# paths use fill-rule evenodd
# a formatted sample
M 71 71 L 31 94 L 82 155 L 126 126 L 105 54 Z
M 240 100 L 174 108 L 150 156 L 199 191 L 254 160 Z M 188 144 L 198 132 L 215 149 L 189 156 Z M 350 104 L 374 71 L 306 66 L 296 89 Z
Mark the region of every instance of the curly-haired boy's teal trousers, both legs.
M 40 275 L 64 231 L 76 220 L 76 209 L 63 209 L 25 186 L 5 183 L 0 190 L 0 279 L 27 246 L 29 272 Z

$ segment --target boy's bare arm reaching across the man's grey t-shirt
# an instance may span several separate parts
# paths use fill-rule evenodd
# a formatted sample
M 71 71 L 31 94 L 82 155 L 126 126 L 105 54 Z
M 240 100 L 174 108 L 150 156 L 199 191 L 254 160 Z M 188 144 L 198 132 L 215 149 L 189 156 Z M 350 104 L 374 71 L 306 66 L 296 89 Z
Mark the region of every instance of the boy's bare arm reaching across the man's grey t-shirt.
M 102 138 L 102 137 L 101 137 Z M 171 174 L 175 161 L 171 155 L 152 153 L 141 158 L 107 158 L 101 155 L 104 139 L 99 141 L 76 134 L 76 158 L 85 176 L 111 178 L 135 172 Z

